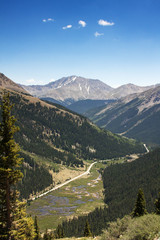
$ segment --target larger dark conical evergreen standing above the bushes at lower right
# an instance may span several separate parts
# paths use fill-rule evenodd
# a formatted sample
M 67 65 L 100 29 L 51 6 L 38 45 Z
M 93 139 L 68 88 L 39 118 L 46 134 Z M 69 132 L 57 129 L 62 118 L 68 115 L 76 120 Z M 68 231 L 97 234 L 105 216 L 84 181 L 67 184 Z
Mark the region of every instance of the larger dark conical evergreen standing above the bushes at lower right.
M 135 203 L 135 207 L 132 213 L 133 217 L 140 217 L 143 216 L 144 214 L 147 214 L 146 210 L 146 202 L 144 198 L 144 193 L 142 189 L 140 188 L 137 194 L 137 200 Z

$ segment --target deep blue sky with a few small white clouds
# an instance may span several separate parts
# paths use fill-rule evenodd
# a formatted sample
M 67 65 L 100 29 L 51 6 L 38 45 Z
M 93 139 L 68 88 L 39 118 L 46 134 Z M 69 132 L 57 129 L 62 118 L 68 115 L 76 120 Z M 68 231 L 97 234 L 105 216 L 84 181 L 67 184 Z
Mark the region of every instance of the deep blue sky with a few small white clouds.
M 160 0 L 0 0 L 0 72 L 25 85 L 160 83 Z

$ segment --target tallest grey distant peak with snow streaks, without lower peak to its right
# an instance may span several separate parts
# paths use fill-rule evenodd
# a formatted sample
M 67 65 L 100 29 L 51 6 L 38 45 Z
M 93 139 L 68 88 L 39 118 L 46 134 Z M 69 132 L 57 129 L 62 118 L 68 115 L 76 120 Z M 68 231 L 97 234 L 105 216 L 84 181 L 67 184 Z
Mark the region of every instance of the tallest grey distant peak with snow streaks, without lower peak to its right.
M 53 98 L 57 101 L 71 104 L 82 99 L 107 99 L 110 86 L 100 80 L 83 77 L 64 77 L 47 85 L 32 85 L 23 87 L 32 95 L 39 98 Z

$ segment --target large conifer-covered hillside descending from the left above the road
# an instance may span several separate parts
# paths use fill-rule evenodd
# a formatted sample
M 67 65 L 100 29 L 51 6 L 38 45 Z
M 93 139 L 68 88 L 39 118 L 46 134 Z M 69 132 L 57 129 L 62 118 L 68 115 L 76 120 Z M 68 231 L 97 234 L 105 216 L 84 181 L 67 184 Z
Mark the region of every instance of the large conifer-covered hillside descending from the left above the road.
M 37 98 L 12 93 L 20 131 L 16 140 L 32 153 L 56 163 L 81 165 L 80 159 L 105 159 L 143 152 L 142 144 L 101 130 L 86 118 Z

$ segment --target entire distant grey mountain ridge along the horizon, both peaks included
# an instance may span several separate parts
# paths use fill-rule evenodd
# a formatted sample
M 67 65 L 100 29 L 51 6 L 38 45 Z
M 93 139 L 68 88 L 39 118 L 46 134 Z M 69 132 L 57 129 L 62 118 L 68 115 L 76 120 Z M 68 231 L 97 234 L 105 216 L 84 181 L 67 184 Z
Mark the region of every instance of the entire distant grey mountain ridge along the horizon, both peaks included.
M 118 88 L 103 83 L 100 80 L 84 77 L 63 77 L 46 85 L 22 85 L 30 94 L 39 98 L 50 98 L 62 105 L 70 105 L 80 100 L 108 100 L 119 99 L 133 93 L 146 91 L 154 86 L 140 87 L 126 84 Z

